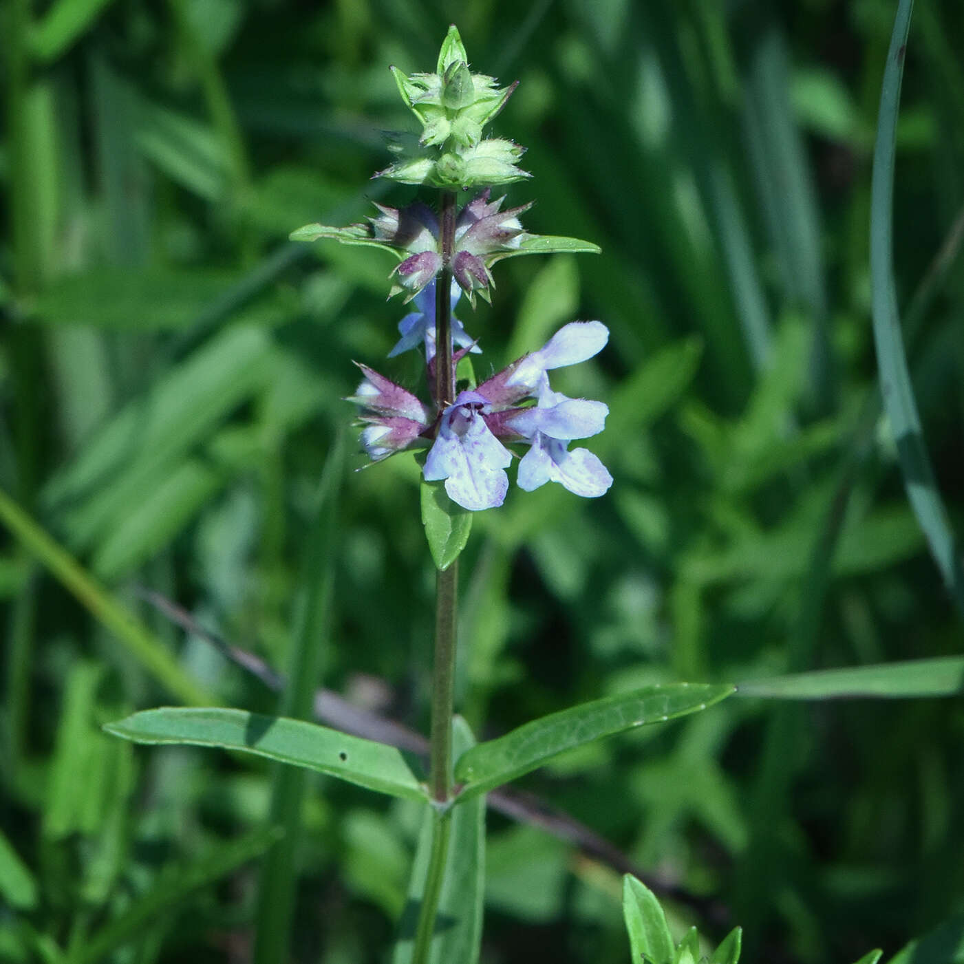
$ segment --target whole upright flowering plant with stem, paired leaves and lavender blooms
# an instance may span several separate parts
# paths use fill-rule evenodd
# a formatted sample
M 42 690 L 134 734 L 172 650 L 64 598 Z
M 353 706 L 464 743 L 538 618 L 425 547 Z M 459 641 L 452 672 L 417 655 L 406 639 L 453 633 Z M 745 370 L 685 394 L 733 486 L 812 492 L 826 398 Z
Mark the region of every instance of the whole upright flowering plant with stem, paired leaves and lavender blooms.
M 434 73 L 393 72 L 421 134 L 400 136 L 398 156 L 377 176 L 433 189 L 437 204 L 376 205 L 377 213 L 364 223 L 346 228 L 312 224 L 291 237 L 391 252 L 398 264 L 389 297 L 402 294 L 414 308 L 398 323 L 400 336 L 388 357 L 424 353 L 424 390 L 416 394 L 359 363 L 362 381 L 350 401 L 358 406 L 362 448 L 371 464 L 418 450 L 421 517 L 437 571 L 428 772 L 419 775 L 393 745 L 242 710 L 147 710 L 110 729 L 141 742 L 256 753 L 419 801 L 425 832 L 413 870 L 416 920 L 403 921 L 396 959 L 471 964 L 478 959 L 481 935 L 487 792 L 582 743 L 705 710 L 733 687 L 645 686 L 553 713 L 477 744 L 454 714 L 458 559 L 474 513 L 502 505 L 509 488 L 506 469 L 515 459 L 516 480 L 525 492 L 558 482 L 572 494 L 596 497 L 612 484 L 595 454 L 570 447 L 603 431 L 607 406 L 556 391 L 549 375 L 597 356 L 609 333 L 600 321 L 572 321 L 542 347 L 481 382 L 475 379 L 469 356 L 482 353 L 484 339 L 455 317 L 463 297 L 471 308 L 476 297 L 491 300 L 493 268 L 505 258 L 599 249 L 576 238 L 530 233 L 521 221 L 528 204 L 503 209 L 503 198 L 492 199 L 493 186 L 529 176 L 517 164 L 522 147 L 483 136 L 515 85 L 500 88 L 492 77 L 472 73 L 454 26 Z M 459 198 L 469 200 L 460 205 Z M 330 466 L 335 464 L 333 459 Z M 325 492 L 334 488 L 335 471 L 326 470 Z M 305 664 L 292 665 L 291 679 L 303 696 L 309 695 L 311 674 Z M 301 706 L 286 709 L 307 713 L 308 702 Z M 279 861 L 284 859 L 281 851 L 276 853 Z M 451 924 L 437 930 L 440 911 Z

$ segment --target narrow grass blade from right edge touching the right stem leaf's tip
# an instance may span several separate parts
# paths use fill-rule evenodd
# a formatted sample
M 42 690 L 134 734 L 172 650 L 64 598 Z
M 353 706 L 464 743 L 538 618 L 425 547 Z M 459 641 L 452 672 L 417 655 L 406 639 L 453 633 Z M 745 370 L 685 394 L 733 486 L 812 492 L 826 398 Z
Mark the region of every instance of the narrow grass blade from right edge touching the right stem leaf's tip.
M 821 669 L 739 683 L 737 696 L 777 700 L 912 699 L 964 693 L 964 656 L 938 656 L 847 669 Z

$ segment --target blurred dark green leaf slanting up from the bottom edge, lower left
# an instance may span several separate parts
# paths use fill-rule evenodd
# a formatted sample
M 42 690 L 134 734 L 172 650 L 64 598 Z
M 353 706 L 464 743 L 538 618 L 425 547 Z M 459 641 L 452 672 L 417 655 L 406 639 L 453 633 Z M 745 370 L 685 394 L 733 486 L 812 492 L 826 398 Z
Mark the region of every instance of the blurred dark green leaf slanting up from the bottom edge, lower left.
M 192 892 L 259 856 L 277 839 L 278 831 L 273 827 L 255 830 L 240 840 L 211 848 L 186 868 L 164 871 L 157 883 L 135 898 L 119 918 L 85 941 L 83 949 L 73 956 L 72 964 L 95 964 L 128 941 L 140 939 L 148 924 L 169 914 Z

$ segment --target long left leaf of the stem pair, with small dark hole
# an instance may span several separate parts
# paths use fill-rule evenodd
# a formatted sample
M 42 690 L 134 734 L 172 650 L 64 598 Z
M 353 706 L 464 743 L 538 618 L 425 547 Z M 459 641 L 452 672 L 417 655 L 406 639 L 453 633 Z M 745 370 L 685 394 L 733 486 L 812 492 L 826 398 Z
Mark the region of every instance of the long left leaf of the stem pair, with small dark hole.
M 104 729 L 135 743 L 216 746 L 293 763 L 409 800 L 424 800 L 400 750 L 361 736 L 245 710 L 166 707 L 134 713 Z

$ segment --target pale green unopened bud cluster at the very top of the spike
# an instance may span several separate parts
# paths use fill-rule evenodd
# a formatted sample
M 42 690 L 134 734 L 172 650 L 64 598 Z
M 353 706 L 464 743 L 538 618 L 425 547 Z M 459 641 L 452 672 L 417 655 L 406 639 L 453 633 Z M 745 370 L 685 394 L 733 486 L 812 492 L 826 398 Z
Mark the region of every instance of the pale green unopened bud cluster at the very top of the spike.
M 407 76 L 396 67 L 391 72 L 422 132 L 417 146 L 398 148 L 398 160 L 378 176 L 447 190 L 508 184 L 529 176 L 516 165 L 524 147 L 482 137 L 483 127 L 505 106 L 516 84 L 499 88 L 495 77 L 472 73 L 454 24 L 442 42 L 435 73 Z

